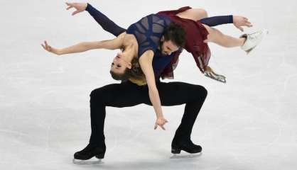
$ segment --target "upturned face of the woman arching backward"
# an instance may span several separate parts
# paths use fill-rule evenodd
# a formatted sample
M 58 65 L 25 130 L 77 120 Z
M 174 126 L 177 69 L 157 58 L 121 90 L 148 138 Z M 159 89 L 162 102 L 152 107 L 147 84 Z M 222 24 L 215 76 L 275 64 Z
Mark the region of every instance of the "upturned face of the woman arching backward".
M 126 68 L 131 69 L 131 62 L 127 61 L 128 55 L 129 52 L 119 52 L 117 56 L 114 57 L 110 70 L 115 74 L 124 74 Z

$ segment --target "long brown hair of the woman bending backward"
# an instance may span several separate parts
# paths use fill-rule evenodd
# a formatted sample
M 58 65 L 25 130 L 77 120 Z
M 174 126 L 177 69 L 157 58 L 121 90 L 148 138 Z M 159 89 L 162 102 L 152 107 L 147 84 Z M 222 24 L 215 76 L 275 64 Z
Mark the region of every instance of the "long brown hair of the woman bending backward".
M 133 58 L 131 61 L 131 69 L 126 68 L 123 74 L 116 74 L 112 71 L 110 71 L 110 74 L 112 75 L 112 78 L 115 80 L 121 80 L 126 81 L 130 77 L 133 77 L 135 79 L 143 79 L 144 78 L 144 72 L 142 72 L 141 67 L 138 62 L 138 58 Z

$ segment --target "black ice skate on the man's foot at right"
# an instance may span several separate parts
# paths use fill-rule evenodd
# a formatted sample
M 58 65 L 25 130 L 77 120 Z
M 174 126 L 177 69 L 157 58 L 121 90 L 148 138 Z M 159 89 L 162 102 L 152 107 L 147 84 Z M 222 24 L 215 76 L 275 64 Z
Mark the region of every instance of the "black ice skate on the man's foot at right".
M 177 156 L 180 154 L 180 151 L 183 150 L 188 152 L 188 155 Z M 202 147 L 200 145 L 195 145 L 190 139 L 187 140 L 176 140 L 173 139 L 171 143 L 171 153 L 173 157 L 171 158 L 188 158 L 188 157 L 198 157 L 200 156 Z

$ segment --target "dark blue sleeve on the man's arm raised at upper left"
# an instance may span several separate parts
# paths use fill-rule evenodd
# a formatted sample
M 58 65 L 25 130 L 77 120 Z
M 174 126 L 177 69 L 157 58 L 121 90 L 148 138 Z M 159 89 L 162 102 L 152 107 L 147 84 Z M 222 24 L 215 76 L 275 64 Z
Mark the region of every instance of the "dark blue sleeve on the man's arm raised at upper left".
M 107 16 L 105 16 L 103 13 L 98 11 L 96 8 L 91 6 L 90 4 L 87 4 L 87 8 L 85 11 L 88 11 L 90 15 L 99 23 L 100 26 L 104 30 L 106 30 L 109 33 L 112 33 L 114 36 L 118 36 L 121 33 L 124 33 L 126 30 L 124 28 L 121 28 L 116 23 L 111 21 Z

